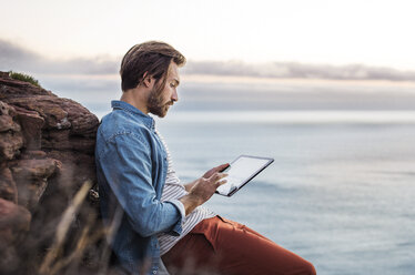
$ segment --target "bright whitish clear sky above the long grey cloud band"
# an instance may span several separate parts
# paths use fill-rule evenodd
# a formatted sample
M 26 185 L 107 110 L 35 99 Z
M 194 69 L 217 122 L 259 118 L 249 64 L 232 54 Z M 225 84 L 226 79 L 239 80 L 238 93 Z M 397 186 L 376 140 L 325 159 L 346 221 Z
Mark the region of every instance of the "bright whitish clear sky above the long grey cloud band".
M 415 71 L 413 0 L 0 0 L 0 39 L 51 60 L 163 40 L 191 61 Z

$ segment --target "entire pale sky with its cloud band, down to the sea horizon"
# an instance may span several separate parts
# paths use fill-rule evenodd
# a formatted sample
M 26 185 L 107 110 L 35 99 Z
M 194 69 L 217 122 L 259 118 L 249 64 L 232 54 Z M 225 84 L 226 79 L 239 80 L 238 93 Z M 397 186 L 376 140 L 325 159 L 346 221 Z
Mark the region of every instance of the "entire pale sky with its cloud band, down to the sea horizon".
M 148 40 L 188 59 L 178 110 L 415 106 L 413 0 L 0 0 L 0 71 L 33 75 L 94 112 L 108 112 L 120 96 L 121 58 Z

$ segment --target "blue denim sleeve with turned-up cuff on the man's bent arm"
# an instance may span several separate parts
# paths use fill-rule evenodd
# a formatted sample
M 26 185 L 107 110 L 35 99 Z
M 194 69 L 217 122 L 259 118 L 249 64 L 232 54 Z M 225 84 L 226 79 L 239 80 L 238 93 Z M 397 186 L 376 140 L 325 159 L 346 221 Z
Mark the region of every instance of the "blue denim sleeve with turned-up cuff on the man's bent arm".
M 136 233 L 180 235 L 185 216 L 178 200 L 161 202 L 152 185 L 150 145 L 140 135 L 113 136 L 100 153 L 98 165 Z

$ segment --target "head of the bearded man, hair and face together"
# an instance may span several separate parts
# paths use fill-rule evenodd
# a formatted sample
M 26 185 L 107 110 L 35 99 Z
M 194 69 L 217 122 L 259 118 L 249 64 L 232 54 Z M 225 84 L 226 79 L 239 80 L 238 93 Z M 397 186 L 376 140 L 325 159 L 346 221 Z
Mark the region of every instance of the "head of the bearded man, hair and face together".
M 121 62 L 122 91 L 152 84 L 146 109 L 163 118 L 169 106 L 176 101 L 178 67 L 184 63 L 183 54 L 168 43 L 149 41 L 136 44 L 125 53 Z

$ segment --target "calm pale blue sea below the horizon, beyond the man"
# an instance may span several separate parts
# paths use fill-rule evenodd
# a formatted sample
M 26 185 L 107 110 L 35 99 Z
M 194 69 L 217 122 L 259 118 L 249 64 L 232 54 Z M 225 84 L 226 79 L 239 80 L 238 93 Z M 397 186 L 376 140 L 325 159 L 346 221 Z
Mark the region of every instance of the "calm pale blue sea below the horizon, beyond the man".
M 172 112 L 158 125 L 183 182 L 240 154 L 274 157 L 209 206 L 310 259 L 318 274 L 414 274 L 414 113 L 286 114 Z

